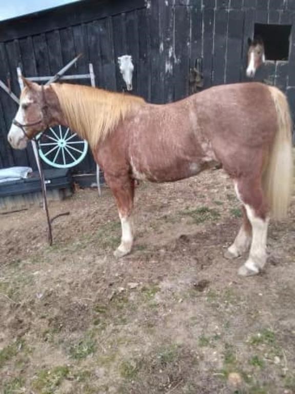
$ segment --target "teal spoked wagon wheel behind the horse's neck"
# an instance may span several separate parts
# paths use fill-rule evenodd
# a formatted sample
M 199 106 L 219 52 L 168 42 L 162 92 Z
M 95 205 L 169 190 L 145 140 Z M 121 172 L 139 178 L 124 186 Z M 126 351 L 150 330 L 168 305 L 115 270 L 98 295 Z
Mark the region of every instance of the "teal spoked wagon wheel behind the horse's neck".
M 88 143 L 69 127 L 50 127 L 38 138 L 41 159 L 55 168 L 70 168 L 79 164 L 87 154 Z

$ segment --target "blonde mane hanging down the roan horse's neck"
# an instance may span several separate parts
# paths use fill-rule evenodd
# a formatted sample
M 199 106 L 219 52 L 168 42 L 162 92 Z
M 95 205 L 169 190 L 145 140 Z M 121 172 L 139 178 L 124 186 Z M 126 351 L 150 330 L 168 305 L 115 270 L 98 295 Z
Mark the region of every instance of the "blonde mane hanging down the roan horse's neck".
M 144 103 L 142 97 L 90 86 L 52 84 L 52 87 L 70 129 L 92 148 L 112 132 L 132 108 Z

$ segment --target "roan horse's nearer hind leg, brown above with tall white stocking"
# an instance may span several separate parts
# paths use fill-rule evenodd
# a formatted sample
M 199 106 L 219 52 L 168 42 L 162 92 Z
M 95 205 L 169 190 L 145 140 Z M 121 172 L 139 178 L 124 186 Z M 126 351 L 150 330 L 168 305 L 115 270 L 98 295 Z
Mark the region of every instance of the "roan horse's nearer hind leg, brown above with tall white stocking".
M 240 199 L 245 205 L 247 217 L 252 226 L 252 242 L 248 260 L 240 267 L 243 276 L 257 274 L 266 263 L 267 205 L 261 182 L 257 179 L 241 179 L 237 183 Z

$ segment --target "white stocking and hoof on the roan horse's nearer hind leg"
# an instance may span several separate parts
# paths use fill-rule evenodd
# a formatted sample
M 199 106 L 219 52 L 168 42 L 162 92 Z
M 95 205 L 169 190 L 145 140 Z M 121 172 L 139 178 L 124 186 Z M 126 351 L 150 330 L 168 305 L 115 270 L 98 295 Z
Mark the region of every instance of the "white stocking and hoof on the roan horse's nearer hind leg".
M 269 219 L 262 220 L 255 215 L 254 209 L 245 205 L 248 219 L 252 225 L 252 243 L 249 258 L 239 270 L 241 275 L 258 273 L 266 263 L 266 239 Z

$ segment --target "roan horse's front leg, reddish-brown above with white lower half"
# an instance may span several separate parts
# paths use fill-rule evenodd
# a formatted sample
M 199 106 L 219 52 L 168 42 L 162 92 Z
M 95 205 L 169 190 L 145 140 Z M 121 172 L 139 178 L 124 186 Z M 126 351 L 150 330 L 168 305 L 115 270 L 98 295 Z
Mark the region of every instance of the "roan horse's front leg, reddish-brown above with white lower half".
M 134 180 L 128 175 L 119 178 L 105 175 L 105 178 L 116 199 L 121 220 L 121 243 L 114 252 L 115 257 L 120 258 L 131 252 L 133 244 Z

